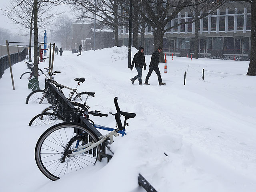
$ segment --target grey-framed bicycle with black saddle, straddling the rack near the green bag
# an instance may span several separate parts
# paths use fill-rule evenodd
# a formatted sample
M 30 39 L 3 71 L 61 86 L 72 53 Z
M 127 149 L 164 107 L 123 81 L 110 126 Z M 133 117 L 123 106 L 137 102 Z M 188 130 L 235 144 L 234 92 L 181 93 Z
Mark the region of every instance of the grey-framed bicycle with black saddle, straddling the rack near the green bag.
M 46 69 L 46 68 L 45 68 Z M 60 71 L 54 71 L 54 72 L 48 72 L 47 74 L 44 74 L 44 76 L 46 76 L 46 78 L 56 86 L 56 88 L 58 88 L 58 90 L 63 94 L 62 92 L 62 88 L 67 88 L 69 90 L 71 90 L 70 92 L 70 97 L 68 98 L 70 101 L 72 100 L 72 97 L 74 96 L 74 94 L 76 94 L 76 96 L 74 96 L 73 101 L 80 101 L 80 102 L 86 102 L 90 97 L 94 97 L 95 93 L 94 92 L 81 92 L 79 93 L 77 90 L 78 85 L 80 85 L 80 82 L 84 82 L 85 78 L 75 78 L 75 81 L 78 81 L 76 88 L 70 88 L 68 86 L 62 85 L 57 83 L 56 81 L 54 81 L 54 77 L 53 75 L 56 75 L 57 73 L 60 73 Z M 50 76 L 52 79 L 48 78 L 48 76 Z M 37 103 L 37 104 L 45 104 L 48 103 L 48 90 L 49 88 L 46 88 L 44 90 L 39 89 L 39 90 L 35 90 L 33 92 L 31 92 L 27 98 L 26 98 L 26 104 L 28 103 Z

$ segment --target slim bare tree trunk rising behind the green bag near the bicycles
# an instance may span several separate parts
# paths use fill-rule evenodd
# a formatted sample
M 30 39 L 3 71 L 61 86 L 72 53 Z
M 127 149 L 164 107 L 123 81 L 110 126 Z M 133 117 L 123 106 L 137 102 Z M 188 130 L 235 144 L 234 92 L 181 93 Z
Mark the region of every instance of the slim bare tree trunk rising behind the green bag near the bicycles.
M 38 64 L 37 64 L 37 44 L 38 44 L 38 28 L 37 28 L 38 6 L 37 0 L 34 0 L 34 75 L 38 77 Z

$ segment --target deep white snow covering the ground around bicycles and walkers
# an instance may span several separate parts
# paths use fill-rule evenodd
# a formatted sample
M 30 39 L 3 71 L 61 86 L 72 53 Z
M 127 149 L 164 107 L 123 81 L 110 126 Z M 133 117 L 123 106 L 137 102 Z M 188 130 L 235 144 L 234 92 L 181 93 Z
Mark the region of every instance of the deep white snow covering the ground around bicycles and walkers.
M 136 52 L 133 48 L 132 56 Z M 146 55 L 142 82 L 150 58 Z M 46 60 L 39 68 L 48 64 Z M 54 70 L 61 71 L 55 80 L 75 87 L 74 78 L 86 78 L 79 91 L 96 93 L 87 102 L 92 110 L 115 112 L 117 96 L 122 111 L 137 114 L 128 120 L 128 134 L 115 138 L 108 164 L 97 162 L 55 182 L 34 160 L 36 142 L 48 127 L 28 126 L 48 105 L 25 104 L 31 90 L 28 80 L 20 79 L 27 71 L 24 62 L 12 67 L 15 90 L 7 69 L 0 79 L 1 191 L 143 192 L 140 173 L 158 192 L 255 192 L 256 77 L 243 75 L 249 62 L 167 56 L 167 64 L 167 73 L 159 64 L 166 86 L 158 86 L 154 72 L 150 86 L 139 86 L 138 80 L 131 84 L 137 72 L 128 68 L 125 46 L 86 51 L 79 57 L 66 51 L 62 57 L 55 55 Z M 44 78 L 39 77 L 41 89 Z M 115 126 L 114 116 L 92 120 Z

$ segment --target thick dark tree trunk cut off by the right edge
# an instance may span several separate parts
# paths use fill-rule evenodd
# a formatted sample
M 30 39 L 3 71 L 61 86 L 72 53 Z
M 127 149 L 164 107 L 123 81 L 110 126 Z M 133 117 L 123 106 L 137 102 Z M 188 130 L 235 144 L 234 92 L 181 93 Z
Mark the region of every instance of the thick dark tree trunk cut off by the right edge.
M 246 75 L 256 75 L 256 0 L 251 3 L 251 53 Z

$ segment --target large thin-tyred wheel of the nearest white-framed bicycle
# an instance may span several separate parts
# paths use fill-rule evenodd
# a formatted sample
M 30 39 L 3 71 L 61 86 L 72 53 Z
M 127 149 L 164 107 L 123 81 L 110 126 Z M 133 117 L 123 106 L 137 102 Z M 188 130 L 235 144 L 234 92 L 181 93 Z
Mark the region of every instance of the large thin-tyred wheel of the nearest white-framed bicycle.
M 98 137 L 81 124 L 56 124 L 40 136 L 35 149 L 36 164 L 47 178 L 58 180 L 65 174 L 94 165 L 99 159 L 100 145 L 76 156 L 67 155 L 82 144 L 97 141 Z

